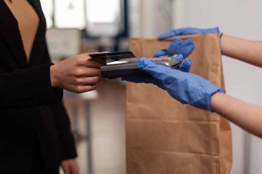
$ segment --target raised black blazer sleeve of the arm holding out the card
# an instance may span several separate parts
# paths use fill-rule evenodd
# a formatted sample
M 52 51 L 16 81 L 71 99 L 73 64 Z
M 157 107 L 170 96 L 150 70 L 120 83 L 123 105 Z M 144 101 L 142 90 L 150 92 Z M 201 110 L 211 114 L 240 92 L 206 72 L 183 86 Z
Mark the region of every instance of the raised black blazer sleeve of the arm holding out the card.
M 26 108 L 59 103 L 63 90 L 52 88 L 50 66 L 44 64 L 6 73 L 0 69 L 0 108 Z

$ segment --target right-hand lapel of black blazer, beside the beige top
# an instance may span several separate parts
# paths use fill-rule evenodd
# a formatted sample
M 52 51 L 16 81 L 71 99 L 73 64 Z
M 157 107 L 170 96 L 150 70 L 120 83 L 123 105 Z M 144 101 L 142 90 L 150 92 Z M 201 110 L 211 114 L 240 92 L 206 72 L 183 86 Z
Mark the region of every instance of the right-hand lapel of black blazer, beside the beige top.
M 46 23 L 44 14 L 41 9 L 41 4 L 39 0 L 28 0 L 28 2 L 32 5 L 34 10 L 36 11 L 39 17 L 39 25 L 34 38 L 34 43 L 32 46 L 32 51 L 29 59 L 29 67 L 38 66 L 41 64 L 44 51 L 45 51 L 45 31 L 46 31 Z

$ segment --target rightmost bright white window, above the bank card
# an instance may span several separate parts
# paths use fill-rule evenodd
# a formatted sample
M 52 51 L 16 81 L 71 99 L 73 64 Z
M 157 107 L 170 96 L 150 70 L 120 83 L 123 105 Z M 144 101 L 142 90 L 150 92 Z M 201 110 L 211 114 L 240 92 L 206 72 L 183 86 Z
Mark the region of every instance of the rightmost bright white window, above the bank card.
M 123 0 L 86 0 L 88 35 L 118 35 L 123 29 L 122 1 Z

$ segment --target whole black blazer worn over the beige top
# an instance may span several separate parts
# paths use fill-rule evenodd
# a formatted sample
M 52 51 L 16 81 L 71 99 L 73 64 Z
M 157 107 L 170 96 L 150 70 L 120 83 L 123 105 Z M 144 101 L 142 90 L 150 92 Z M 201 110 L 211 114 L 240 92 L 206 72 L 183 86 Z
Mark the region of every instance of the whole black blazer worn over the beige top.
M 47 169 L 76 157 L 63 91 L 50 83 L 41 5 L 28 1 L 40 20 L 29 63 L 17 21 L 0 0 L 0 174 L 29 173 L 36 142 Z

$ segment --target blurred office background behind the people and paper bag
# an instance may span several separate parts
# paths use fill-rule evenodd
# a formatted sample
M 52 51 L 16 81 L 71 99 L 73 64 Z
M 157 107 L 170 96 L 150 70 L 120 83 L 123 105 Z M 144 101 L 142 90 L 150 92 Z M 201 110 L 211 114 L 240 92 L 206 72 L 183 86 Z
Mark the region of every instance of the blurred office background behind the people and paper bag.
M 53 62 L 80 52 L 128 50 L 131 37 L 179 27 L 220 26 L 262 41 L 261 0 L 41 0 Z M 223 57 L 227 93 L 262 105 L 262 69 Z M 65 93 L 80 174 L 125 174 L 125 84 L 103 80 L 96 91 Z M 262 173 L 262 140 L 232 124 L 232 174 Z

